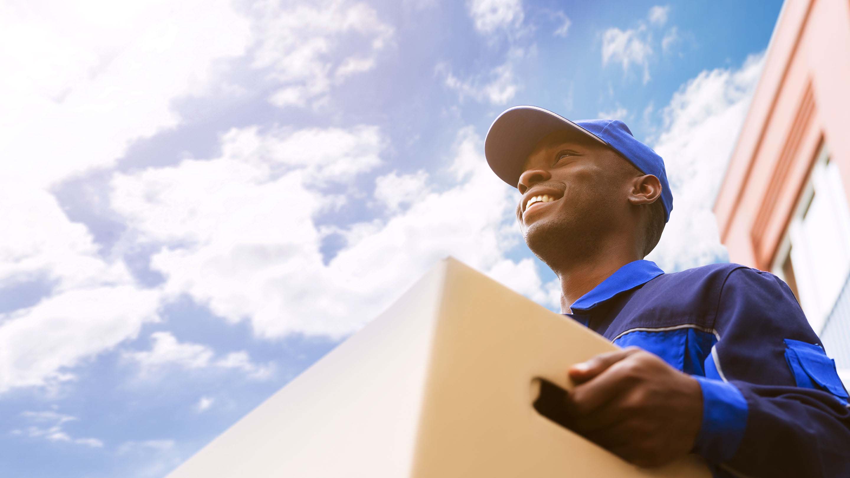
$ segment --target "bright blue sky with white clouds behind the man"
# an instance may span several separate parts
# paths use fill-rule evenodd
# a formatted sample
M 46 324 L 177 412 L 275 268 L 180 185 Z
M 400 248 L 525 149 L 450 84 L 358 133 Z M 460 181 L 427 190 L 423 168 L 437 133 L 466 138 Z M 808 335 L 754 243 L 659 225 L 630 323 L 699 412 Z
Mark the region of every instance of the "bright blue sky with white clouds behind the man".
M 484 162 L 511 105 L 666 158 L 650 256 L 711 203 L 779 2 L 7 2 L 0 469 L 162 476 L 445 255 L 557 309 Z

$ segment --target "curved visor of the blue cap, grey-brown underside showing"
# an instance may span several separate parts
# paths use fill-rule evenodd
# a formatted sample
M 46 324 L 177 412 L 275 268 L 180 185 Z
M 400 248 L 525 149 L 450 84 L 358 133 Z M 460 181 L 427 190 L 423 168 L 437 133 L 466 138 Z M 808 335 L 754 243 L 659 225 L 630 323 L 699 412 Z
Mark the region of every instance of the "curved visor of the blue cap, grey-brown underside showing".
M 574 131 L 608 145 L 596 134 L 552 111 L 522 105 L 502 111 L 490 126 L 484 139 L 484 156 L 496 176 L 517 187 L 519 175 L 523 174 L 525 160 L 531 151 L 547 134 L 556 131 Z

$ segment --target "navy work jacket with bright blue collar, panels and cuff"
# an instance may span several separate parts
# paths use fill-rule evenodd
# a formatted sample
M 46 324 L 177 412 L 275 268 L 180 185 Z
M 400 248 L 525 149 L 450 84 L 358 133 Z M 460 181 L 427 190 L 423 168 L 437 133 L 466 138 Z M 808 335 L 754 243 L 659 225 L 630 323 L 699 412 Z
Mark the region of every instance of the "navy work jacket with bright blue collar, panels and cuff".
M 778 277 L 737 264 L 665 274 L 638 260 L 570 309 L 700 382 L 694 452 L 716 477 L 850 477 L 847 390 Z

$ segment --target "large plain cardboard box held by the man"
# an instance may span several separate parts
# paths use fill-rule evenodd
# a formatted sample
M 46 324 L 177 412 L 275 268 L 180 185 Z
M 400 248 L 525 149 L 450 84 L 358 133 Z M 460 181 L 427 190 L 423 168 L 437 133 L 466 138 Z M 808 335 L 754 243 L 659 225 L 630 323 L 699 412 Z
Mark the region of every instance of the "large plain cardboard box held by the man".
M 570 365 L 614 349 L 445 259 L 169 477 L 710 477 L 697 457 L 640 469 L 536 411 L 541 378 L 569 390 Z

